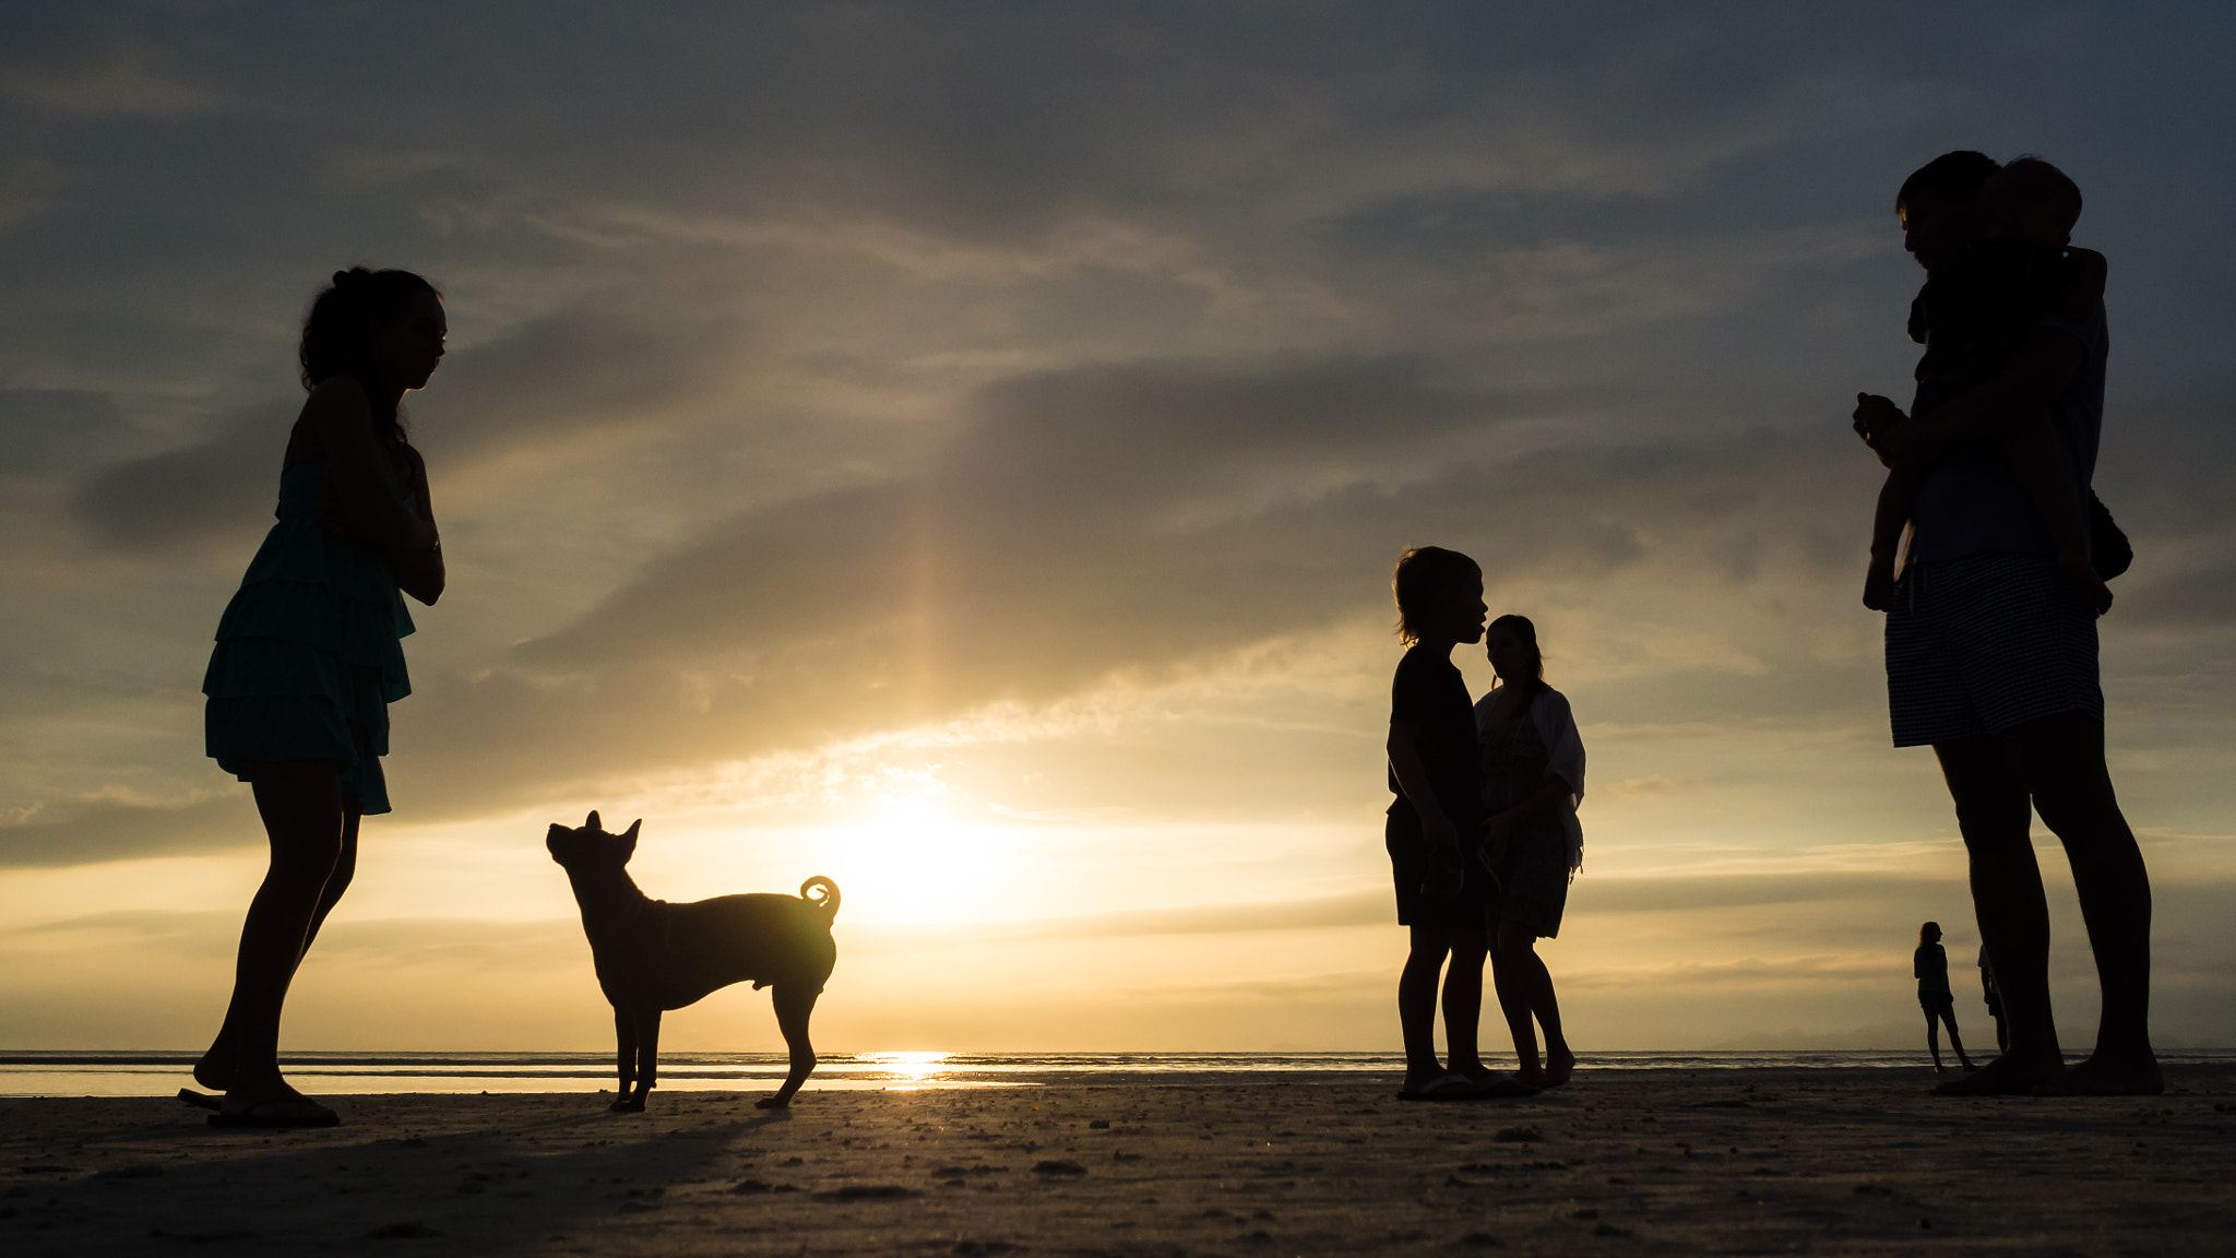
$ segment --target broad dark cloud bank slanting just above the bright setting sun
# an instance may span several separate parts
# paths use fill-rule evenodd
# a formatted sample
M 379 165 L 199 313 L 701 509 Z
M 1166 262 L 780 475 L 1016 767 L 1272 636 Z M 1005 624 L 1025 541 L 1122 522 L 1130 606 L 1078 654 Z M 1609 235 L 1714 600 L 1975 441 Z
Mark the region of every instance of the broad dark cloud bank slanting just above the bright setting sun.
M 921 475 L 731 517 L 503 667 L 423 687 L 420 763 L 494 788 L 1049 703 L 1371 613 L 1406 544 L 1581 578 L 1807 492 L 1755 484 L 1800 452 L 1771 436 L 1478 454 L 1608 405 L 1402 360 L 1006 381 Z

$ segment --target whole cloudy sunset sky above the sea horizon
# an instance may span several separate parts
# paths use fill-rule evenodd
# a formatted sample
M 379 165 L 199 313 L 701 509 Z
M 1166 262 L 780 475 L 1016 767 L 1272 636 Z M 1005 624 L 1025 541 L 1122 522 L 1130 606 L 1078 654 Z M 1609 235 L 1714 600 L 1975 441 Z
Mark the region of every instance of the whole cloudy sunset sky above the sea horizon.
M 2109 752 L 2158 1043 L 2236 1045 L 2232 58 L 2205 2 L 9 7 L 0 1048 L 215 1032 L 264 837 L 199 680 L 349 264 L 445 293 L 449 593 L 286 1048 L 610 1045 L 541 844 L 599 808 L 662 900 L 841 884 L 832 1052 L 1393 1050 L 1418 544 L 1590 750 L 1581 1052 L 1910 1045 L 1927 918 L 1986 1039 L 1847 425 L 1952 148 L 2111 257 Z

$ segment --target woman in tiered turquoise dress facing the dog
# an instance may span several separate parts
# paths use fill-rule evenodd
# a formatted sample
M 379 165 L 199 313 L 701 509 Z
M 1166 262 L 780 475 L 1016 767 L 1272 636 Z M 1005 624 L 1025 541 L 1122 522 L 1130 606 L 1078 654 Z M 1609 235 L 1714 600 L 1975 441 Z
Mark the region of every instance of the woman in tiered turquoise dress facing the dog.
M 224 1090 L 212 1126 L 331 1126 L 280 1077 L 280 1005 L 349 889 L 358 819 L 389 810 L 387 705 L 411 694 L 398 591 L 443 593 L 427 466 L 398 403 L 443 360 L 443 300 L 409 271 L 338 271 L 302 329 L 311 389 L 280 472 L 280 522 L 217 622 L 206 741 L 250 783 L 271 869 L 241 924 L 233 1003 L 195 1065 Z

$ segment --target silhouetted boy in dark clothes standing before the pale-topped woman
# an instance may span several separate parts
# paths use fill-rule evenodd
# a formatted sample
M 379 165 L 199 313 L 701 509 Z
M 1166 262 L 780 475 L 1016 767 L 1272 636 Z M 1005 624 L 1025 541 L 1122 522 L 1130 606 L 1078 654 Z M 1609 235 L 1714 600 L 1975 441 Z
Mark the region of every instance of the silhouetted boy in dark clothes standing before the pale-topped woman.
M 1482 569 L 1458 551 L 1420 546 L 1398 560 L 1398 638 L 1406 654 L 1391 680 L 1389 781 L 1384 846 L 1398 886 L 1398 924 L 1411 931 L 1411 954 L 1398 978 L 1398 1025 L 1404 1030 L 1409 1101 L 1453 1101 L 1480 1095 L 1485 1074 L 1476 1041 L 1482 1016 L 1485 913 L 1491 875 L 1480 860 L 1476 714 L 1451 649 L 1482 640 Z M 1444 1039 L 1449 1068 L 1436 1057 L 1438 976 L 1444 958 Z

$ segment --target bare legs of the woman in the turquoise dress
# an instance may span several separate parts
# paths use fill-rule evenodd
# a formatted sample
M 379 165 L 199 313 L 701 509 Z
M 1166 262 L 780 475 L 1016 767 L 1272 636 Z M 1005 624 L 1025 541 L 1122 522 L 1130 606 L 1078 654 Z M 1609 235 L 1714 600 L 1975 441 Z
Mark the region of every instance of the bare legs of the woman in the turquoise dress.
M 313 924 L 347 886 L 347 877 L 335 875 L 344 873 L 344 830 L 356 830 L 356 808 L 344 815 L 333 761 L 266 761 L 248 772 L 271 839 L 271 869 L 241 922 L 226 1025 L 195 1070 L 206 1086 L 224 1086 L 228 1113 L 297 1097 L 280 1077 L 280 1010 Z M 331 898 L 329 884 L 338 884 Z M 203 1079 L 203 1068 L 212 1079 Z M 228 1077 L 219 1081 L 221 1070 Z

